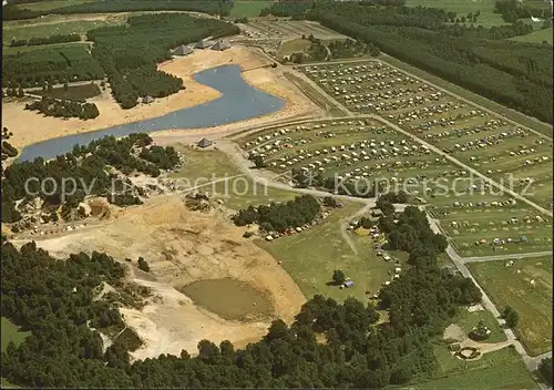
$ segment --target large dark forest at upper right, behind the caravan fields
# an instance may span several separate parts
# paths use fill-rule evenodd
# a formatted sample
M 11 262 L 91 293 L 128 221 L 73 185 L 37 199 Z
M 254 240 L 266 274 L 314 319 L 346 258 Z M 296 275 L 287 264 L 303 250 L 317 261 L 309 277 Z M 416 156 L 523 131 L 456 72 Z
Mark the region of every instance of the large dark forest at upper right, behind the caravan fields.
M 455 12 L 375 3 L 302 2 L 308 7 L 302 14 L 485 98 L 553 122 L 552 47 L 506 40 L 530 33 L 531 25 L 515 21 L 483 28 L 459 23 Z M 281 2 L 267 12 L 298 17 L 298 7 Z

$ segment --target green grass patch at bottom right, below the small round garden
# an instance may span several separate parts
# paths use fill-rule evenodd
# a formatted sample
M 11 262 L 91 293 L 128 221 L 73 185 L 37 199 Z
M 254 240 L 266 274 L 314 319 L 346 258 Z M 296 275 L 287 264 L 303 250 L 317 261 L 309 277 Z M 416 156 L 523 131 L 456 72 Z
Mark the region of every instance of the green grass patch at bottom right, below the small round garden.
M 464 362 L 453 357 L 442 341 L 437 341 L 434 353 L 439 372 L 431 380 L 413 384 L 421 390 L 445 389 L 538 389 L 520 355 L 511 348 L 485 353 L 481 359 Z

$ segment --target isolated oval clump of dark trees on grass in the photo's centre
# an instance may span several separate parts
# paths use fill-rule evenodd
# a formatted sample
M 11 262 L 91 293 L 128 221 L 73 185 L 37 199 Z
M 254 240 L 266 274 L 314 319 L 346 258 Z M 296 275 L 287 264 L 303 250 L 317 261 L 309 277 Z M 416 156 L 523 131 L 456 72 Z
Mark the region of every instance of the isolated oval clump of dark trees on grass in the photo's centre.
M 311 195 L 295 197 L 287 203 L 271 203 L 268 206 L 249 206 L 233 216 L 237 226 L 257 223 L 266 232 L 285 232 L 310 224 L 321 211 L 319 201 Z

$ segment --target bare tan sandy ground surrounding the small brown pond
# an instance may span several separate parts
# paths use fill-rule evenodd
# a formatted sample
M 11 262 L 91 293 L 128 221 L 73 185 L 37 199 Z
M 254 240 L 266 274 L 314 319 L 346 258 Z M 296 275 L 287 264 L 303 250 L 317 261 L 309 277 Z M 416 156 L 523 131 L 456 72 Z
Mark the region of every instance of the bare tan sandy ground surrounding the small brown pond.
M 286 321 L 293 320 L 305 301 L 277 261 L 242 238 L 244 229 L 233 226 L 220 211 L 191 212 L 177 195 L 165 195 L 112 215 L 101 225 L 37 240 L 37 245 L 60 257 L 99 250 L 119 259 L 143 256 L 148 261 L 151 275 L 136 271 L 134 280 L 150 286 L 162 301 L 152 299 L 141 311 L 122 309 L 127 326 L 145 341 L 133 353 L 136 359 L 178 355 L 182 349 L 194 355 L 202 339 L 216 343 L 228 339 L 240 347 L 267 331 L 270 318 L 253 322 L 224 320 L 194 305 L 175 287 L 201 279 L 236 278 L 265 294 L 273 301 L 274 317 Z

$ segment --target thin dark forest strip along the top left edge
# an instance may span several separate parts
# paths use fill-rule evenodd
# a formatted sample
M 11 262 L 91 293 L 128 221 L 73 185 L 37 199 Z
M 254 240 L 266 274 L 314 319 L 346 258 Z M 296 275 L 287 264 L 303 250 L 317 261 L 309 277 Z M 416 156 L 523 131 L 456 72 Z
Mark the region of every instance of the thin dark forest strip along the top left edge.
M 33 1 L 34 2 L 34 1 Z M 71 4 L 53 10 L 31 11 L 10 1 L 2 7 L 3 20 L 34 19 L 48 13 L 107 13 L 137 11 L 196 11 L 228 16 L 233 1 L 226 0 L 106 0 Z

